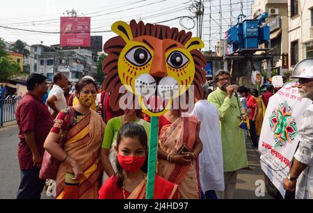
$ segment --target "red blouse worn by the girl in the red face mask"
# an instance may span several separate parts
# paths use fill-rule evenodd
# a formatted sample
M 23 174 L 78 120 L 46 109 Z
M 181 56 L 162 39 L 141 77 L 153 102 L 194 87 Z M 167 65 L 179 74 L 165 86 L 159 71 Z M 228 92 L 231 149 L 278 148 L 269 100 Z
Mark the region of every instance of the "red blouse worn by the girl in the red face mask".
M 123 189 L 118 187 L 117 181 L 118 178 L 115 175 L 106 180 L 99 190 L 99 199 L 123 199 Z M 154 182 L 154 199 L 168 199 L 175 184 L 159 175 L 155 175 Z M 128 198 L 130 194 L 129 191 L 125 190 L 125 198 Z M 172 199 L 178 199 L 178 189 L 176 189 Z

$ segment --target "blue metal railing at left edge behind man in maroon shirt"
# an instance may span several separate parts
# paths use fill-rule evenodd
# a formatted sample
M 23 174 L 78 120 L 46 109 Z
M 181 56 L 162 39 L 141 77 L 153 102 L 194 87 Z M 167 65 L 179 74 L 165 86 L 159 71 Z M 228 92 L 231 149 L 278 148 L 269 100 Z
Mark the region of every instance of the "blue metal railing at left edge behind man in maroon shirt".
M 6 99 L 0 98 L 0 125 L 15 120 L 15 110 L 22 100 L 22 97 L 8 96 Z

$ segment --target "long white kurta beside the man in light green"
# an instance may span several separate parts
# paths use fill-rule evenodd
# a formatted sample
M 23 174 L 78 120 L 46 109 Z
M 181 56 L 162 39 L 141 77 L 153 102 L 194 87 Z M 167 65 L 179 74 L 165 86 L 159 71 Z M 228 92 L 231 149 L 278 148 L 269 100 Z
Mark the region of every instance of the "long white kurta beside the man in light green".
M 195 104 L 192 112 L 200 121 L 200 139 L 203 144 L 199 155 L 199 175 L 201 191 L 223 191 L 223 149 L 220 137 L 218 110 L 207 100 Z

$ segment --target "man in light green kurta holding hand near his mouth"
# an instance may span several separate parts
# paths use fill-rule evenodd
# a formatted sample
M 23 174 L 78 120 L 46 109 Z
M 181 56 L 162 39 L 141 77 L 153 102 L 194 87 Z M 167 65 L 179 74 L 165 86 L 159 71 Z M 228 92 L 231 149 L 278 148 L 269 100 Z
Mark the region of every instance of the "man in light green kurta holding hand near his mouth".
M 234 196 L 237 171 L 248 166 L 243 129 L 239 127 L 243 119 L 242 106 L 239 97 L 234 94 L 230 80 L 230 72 L 218 70 L 214 75 L 218 88 L 208 97 L 208 101 L 215 105 L 220 115 L 225 181 L 225 190 L 220 197 L 226 199 Z

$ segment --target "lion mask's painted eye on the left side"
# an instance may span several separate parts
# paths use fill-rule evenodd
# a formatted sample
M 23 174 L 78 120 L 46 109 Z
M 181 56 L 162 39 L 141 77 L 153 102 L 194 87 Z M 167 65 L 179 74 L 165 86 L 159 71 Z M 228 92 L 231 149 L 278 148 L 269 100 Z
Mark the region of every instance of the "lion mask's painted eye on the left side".
M 141 67 L 150 61 L 151 54 L 145 47 L 133 47 L 129 49 L 125 57 L 133 65 Z

